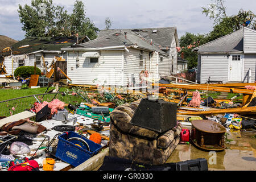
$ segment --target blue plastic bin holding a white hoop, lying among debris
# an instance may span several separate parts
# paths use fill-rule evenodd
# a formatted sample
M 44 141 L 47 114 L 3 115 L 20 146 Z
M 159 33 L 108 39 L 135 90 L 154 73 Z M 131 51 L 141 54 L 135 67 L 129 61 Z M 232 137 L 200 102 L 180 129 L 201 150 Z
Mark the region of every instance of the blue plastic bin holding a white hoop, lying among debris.
M 85 162 L 85 160 L 91 158 L 102 147 L 100 144 L 94 143 L 92 140 L 89 140 L 74 131 L 63 133 L 58 139 L 59 142 L 55 154 L 56 158 L 71 164 L 73 167 L 79 166 L 81 163 Z M 80 139 L 84 140 L 86 145 L 84 145 L 85 142 L 79 143 Z

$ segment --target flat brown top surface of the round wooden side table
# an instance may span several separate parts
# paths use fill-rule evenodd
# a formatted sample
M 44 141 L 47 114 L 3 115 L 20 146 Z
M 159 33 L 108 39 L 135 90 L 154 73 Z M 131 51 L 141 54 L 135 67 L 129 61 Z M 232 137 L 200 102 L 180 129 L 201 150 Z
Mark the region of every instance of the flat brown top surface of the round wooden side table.
M 197 130 L 204 131 L 206 133 L 225 133 L 226 129 L 220 123 L 212 120 L 194 120 L 191 121 L 192 126 Z

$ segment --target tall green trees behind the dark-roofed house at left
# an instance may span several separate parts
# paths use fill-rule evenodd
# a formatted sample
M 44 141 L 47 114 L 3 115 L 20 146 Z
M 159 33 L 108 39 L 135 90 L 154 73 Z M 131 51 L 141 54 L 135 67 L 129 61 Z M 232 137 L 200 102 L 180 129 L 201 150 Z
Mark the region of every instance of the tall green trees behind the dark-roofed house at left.
M 43 7 L 42 7 L 43 5 Z M 71 14 L 52 0 L 32 0 L 31 6 L 19 5 L 18 13 L 26 36 L 87 35 L 95 39 L 99 29 L 85 16 L 82 1 L 76 1 Z

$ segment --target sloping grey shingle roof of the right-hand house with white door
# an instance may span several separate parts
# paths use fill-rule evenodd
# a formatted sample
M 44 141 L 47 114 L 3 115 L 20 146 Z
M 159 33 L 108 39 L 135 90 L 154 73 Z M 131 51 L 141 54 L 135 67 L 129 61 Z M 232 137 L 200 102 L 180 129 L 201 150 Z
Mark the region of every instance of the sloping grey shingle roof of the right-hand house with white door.
M 243 51 L 243 28 L 238 31 L 233 32 L 208 42 L 202 46 L 196 47 L 193 51 L 199 53 L 203 52 L 240 52 Z

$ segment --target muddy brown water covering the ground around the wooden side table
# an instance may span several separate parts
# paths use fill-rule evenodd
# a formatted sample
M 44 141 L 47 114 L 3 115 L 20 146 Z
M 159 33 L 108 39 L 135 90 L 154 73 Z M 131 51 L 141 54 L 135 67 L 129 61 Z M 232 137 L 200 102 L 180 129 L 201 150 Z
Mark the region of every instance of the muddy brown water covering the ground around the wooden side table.
M 230 130 L 225 135 L 225 150 L 202 151 L 193 144 L 179 144 L 166 163 L 205 158 L 209 171 L 256 170 L 256 133 Z

